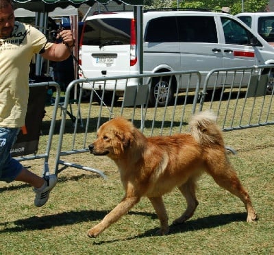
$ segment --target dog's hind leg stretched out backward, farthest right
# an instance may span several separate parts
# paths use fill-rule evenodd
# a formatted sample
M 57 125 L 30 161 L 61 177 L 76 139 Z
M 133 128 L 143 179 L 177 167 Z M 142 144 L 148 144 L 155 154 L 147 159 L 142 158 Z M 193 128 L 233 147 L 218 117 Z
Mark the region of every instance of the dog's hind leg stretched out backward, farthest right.
M 242 200 L 247 210 L 247 222 L 255 221 L 257 219 L 257 215 L 251 204 L 249 194 L 240 183 L 236 171 L 229 164 L 229 162 L 224 165 L 219 164 L 212 166 L 208 169 L 208 173 L 212 175 L 212 178 L 217 184 L 219 184 L 219 186 Z

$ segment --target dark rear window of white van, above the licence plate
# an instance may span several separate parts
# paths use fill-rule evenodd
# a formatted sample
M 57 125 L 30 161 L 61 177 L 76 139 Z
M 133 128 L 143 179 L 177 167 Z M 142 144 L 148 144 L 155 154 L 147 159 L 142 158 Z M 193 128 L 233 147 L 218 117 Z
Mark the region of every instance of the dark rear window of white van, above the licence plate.
M 92 19 L 86 21 L 82 45 L 129 45 L 131 19 Z

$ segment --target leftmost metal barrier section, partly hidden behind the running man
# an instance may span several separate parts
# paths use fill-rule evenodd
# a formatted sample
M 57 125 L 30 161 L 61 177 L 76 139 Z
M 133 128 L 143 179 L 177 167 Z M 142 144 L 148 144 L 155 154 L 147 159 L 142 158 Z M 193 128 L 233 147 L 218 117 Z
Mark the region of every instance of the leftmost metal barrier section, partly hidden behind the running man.
M 57 84 L 56 82 L 40 82 L 40 83 L 29 84 L 30 88 L 42 87 L 42 86 L 55 88 L 55 102 L 53 104 L 53 114 L 51 117 L 51 124 L 49 127 L 49 136 L 48 136 L 48 140 L 47 140 L 47 147 L 45 149 L 45 153 L 26 155 L 26 156 L 18 156 L 15 159 L 18 161 L 25 161 L 25 160 L 36 160 L 36 159 L 44 158 L 45 159 L 44 160 L 44 168 L 43 168 L 42 173 L 47 175 L 47 173 L 49 173 L 49 153 L 51 151 L 51 143 L 52 143 L 52 139 L 53 139 L 56 114 L 58 112 L 61 90 L 60 90 L 59 84 Z

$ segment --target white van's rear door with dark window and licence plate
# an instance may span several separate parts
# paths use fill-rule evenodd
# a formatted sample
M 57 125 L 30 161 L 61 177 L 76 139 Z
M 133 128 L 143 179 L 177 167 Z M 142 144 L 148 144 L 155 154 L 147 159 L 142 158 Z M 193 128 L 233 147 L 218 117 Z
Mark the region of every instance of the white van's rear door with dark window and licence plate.
M 101 14 L 88 19 L 82 34 L 82 69 L 90 77 L 129 75 L 131 22 L 129 16 Z

